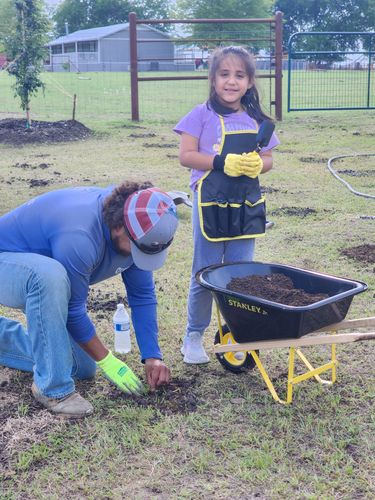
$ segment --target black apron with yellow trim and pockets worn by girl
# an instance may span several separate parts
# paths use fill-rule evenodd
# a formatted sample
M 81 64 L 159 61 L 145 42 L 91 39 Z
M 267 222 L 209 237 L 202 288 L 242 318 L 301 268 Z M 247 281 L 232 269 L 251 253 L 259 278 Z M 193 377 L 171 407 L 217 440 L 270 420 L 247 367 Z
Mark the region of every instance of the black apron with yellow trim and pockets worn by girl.
M 254 151 L 258 130 L 227 132 L 223 117 L 219 118 L 222 129 L 219 154 Z M 266 207 L 258 177 L 230 177 L 224 172 L 210 170 L 198 181 L 197 190 L 199 222 L 207 240 L 264 236 Z

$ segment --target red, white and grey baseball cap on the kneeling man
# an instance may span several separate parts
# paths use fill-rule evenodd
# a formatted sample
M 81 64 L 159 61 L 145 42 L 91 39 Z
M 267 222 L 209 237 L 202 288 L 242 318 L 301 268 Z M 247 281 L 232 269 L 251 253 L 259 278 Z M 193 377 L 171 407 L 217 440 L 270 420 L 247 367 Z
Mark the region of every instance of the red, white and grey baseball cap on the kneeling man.
M 124 226 L 134 264 L 144 271 L 159 269 L 178 226 L 176 205 L 158 188 L 136 191 L 125 202 Z

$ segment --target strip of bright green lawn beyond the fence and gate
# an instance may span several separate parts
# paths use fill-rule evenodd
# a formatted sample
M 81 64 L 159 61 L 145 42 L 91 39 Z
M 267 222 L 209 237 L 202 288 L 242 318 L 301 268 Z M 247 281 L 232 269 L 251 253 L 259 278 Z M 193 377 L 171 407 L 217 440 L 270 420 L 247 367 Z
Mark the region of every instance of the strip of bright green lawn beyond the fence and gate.
M 199 72 L 205 75 L 207 72 Z M 262 73 L 262 72 L 261 72 Z M 267 74 L 267 72 L 263 71 Z M 147 72 L 143 77 L 171 76 L 170 72 Z M 174 75 L 191 76 L 197 72 Z M 130 74 L 128 72 L 48 73 L 42 74 L 46 85 L 32 99 L 32 114 L 38 119 L 67 120 L 72 117 L 73 96 L 77 96 L 76 118 L 80 121 L 130 119 Z M 14 79 L 0 72 L 0 109 L 20 113 L 19 101 L 14 98 L 11 85 Z M 287 105 L 288 72 L 284 71 L 283 103 Z M 370 75 L 368 96 L 367 71 L 293 71 L 291 77 L 291 107 L 344 108 L 375 107 L 375 76 Z M 258 86 L 263 106 L 270 112 L 270 80 L 259 79 Z M 139 113 L 141 119 L 158 122 L 178 121 L 195 104 L 207 98 L 208 84 L 197 81 L 139 82 Z

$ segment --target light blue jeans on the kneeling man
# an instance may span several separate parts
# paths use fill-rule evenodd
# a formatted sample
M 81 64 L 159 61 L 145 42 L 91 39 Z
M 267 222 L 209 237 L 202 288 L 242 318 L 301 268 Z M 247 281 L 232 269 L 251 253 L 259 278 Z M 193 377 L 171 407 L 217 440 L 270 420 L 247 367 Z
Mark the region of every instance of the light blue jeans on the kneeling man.
M 32 253 L 0 252 L 0 304 L 22 309 L 27 329 L 0 316 L 0 364 L 34 372 L 49 398 L 74 392 L 74 380 L 95 375 L 96 363 L 66 328 L 70 281 L 58 261 Z

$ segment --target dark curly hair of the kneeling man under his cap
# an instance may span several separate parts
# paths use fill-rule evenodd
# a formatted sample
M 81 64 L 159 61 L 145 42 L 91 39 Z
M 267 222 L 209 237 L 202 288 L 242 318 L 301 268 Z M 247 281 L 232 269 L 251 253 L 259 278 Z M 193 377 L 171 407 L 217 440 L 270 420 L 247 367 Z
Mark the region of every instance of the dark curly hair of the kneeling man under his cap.
M 126 181 L 115 187 L 104 200 L 103 217 L 109 229 L 116 229 L 124 225 L 124 205 L 126 199 L 136 191 L 152 187 L 152 183 Z

